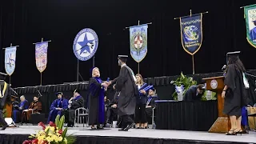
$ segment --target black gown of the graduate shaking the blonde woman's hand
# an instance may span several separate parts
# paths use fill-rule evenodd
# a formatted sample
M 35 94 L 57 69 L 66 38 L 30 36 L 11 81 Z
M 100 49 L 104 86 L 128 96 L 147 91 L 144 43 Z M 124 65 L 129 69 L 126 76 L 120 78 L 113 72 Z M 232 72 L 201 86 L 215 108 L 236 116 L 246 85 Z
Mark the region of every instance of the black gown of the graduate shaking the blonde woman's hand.
M 118 115 L 132 115 L 135 112 L 138 88 L 134 82 L 132 70 L 128 66 L 122 66 L 115 88 L 120 91 L 118 96 Z

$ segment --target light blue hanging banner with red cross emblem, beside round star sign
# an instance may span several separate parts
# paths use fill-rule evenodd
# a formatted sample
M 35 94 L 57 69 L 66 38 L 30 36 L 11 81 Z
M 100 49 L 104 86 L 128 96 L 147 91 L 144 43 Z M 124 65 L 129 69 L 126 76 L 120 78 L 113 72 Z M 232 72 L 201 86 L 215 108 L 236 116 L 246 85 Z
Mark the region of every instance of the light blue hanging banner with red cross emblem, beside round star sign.
M 130 27 L 130 55 L 136 62 L 142 62 L 147 53 L 147 24 Z

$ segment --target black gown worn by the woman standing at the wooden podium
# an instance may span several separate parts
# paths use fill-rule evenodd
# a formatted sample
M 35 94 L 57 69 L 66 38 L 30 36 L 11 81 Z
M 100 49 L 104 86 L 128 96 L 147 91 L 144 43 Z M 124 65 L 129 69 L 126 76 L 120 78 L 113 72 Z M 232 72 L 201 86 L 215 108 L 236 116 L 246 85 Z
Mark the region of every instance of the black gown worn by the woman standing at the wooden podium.
M 226 90 L 223 113 L 230 116 L 241 116 L 242 106 L 249 104 L 250 99 L 246 95 L 242 72 L 234 64 L 227 67 L 224 84 L 228 89 Z

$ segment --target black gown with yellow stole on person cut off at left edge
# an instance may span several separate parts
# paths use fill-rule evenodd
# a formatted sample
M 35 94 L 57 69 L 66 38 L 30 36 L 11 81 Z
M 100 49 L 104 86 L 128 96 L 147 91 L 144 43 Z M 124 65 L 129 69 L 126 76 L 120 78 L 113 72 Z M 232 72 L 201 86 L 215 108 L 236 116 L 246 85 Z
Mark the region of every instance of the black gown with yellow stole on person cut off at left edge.
M 6 104 L 6 98 L 7 97 L 10 98 L 10 94 L 9 94 L 10 86 L 8 83 L 6 83 L 4 81 L 0 81 L 0 86 L 1 86 L 1 93 L 2 93 L 2 97 L 0 97 L 0 125 L 6 126 L 7 123 L 6 123 L 5 119 L 3 118 L 2 110 Z

